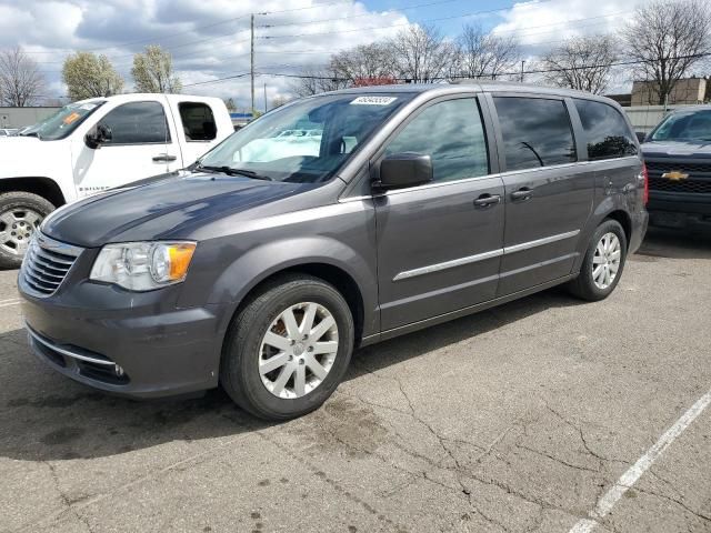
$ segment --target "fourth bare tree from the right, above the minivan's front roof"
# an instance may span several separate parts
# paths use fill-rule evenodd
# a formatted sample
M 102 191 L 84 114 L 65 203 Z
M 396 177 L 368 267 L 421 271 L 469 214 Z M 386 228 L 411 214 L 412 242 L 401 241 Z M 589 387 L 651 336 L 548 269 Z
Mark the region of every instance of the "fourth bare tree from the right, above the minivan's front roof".
M 410 26 L 387 46 L 392 50 L 399 79 L 427 83 L 451 74 L 455 47 L 432 26 Z

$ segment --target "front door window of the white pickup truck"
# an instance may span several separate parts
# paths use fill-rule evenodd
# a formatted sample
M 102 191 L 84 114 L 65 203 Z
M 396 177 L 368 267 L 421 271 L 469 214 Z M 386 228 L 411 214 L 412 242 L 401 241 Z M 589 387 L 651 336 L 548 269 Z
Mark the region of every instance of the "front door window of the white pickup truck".
M 110 111 L 100 123 L 111 129 L 107 145 L 170 141 L 166 112 L 159 102 L 124 103 Z

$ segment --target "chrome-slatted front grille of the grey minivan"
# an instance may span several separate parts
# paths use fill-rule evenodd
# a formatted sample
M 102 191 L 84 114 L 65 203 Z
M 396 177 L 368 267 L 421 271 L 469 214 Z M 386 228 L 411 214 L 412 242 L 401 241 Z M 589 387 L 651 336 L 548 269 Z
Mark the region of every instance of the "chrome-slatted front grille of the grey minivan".
M 22 280 L 37 296 L 49 296 L 59 289 L 77 261 L 81 249 L 36 233 L 22 262 Z

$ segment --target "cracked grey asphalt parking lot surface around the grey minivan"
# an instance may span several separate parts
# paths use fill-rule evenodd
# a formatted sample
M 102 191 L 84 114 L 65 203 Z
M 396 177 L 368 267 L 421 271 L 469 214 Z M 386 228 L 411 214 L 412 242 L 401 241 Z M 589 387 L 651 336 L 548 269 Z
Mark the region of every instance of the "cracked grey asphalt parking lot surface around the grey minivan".
M 28 351 L 0 272 L 0 531 L 568 532 L 711 389 L 711 238 L 650 231 L 607 301 L 561 290 L 356 353 L 316 413 L 132 402 Z M 599 532 L 711 531 L 711 408 Z

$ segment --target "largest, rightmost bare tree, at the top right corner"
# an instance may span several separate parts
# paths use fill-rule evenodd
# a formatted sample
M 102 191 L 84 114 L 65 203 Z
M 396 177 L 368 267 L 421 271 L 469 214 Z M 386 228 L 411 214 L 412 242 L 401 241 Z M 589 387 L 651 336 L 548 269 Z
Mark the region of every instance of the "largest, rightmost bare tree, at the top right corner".
M 702 0 L 654 0 L 623 30 L 635 78 L 650 81 L 650 103 L 663 104 L 690 68 L 711 53 L 711 10 Z

